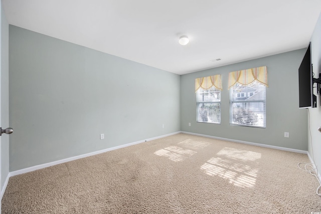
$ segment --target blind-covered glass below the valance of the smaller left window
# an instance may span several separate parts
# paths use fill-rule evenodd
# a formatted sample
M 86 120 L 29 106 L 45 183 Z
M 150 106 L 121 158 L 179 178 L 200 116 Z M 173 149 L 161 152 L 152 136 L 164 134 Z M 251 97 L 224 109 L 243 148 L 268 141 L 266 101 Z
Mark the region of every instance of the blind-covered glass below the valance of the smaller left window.
M 221 123 L 221 90 L 212 86 L 199 88 L 196 92 L 196 121 L 204 123 Z

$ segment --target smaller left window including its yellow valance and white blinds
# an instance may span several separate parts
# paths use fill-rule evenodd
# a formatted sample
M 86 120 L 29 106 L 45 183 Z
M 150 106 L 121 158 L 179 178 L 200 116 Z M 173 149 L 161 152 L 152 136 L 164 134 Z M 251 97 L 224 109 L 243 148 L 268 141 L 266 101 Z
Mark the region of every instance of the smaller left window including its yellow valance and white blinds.
M 221 75 L 195 79 L 196 121 L 221 123 Z

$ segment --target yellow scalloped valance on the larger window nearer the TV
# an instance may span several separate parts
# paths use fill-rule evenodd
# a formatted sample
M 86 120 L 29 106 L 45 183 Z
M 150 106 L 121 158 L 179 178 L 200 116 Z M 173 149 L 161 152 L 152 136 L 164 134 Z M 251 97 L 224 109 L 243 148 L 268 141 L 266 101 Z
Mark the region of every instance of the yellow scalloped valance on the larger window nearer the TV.
M 250 68 L 241 71 L 233 71 L 229 73 L 229 89 L 232 88 L 236 83 L 241 85 L 249 85 L 254 81 L 257 81 L 258 83 L 268 87 L 266 66 Z

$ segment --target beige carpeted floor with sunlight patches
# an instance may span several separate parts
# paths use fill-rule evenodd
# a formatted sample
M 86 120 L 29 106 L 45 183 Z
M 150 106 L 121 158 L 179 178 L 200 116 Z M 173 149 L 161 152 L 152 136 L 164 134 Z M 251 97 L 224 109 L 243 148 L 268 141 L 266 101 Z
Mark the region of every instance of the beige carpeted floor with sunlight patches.
M 306 154 L 177 134 L 13 176 L 2 213 L 321 212 Z

